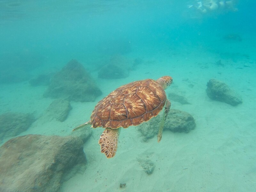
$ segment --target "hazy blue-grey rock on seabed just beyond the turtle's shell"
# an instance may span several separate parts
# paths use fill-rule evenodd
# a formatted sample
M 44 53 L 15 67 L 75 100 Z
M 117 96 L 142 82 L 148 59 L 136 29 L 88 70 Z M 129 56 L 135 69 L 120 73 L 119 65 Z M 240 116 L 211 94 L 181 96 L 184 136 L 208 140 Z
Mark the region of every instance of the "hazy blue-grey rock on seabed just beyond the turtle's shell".
M 116 55 L 110 58 L 98 72 L 98 77 L 103 79 L 119 79 L 129 76 L 131 64 L 125 57 Z

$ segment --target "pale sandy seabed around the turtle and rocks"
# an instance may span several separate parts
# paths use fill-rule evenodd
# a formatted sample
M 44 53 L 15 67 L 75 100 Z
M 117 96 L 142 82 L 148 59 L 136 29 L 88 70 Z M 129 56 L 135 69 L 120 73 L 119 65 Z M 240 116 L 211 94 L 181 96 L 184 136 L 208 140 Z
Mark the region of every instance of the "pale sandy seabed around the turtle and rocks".
M 144 64 L 129 77 L 96 78 L 103 95 L 95 102 L 71 102 L 73 109 L 66 121 L 35 122 L 20 135 L 68 135 L 75 126 L 89 119 L 101 98 L 118 86 L 170 75 L 173 84 L 166 92 L 175 90 L 191 102 L 191 105 L 172 102 L 172 108 L 190 113 L 196 120 L 196 129 L 189 133 L 164 131 L 160 143 L 156 137 L 143 142 L 136 127 L 122 129 L 113 159 L 100 153 L 98 140 L 103 129 L 94 129 L 92 137 L 84 144 L 88 160 L 85 172 L 64 182 L 61 191 L 256 191 L 255 58 L 251 58 L 253 63 L 245 58 L 237 59 L 236 63 L 222 59 L 225 64 L 222 67 L 214 64 L 220 59 L 218 54 L 198 49 L 200 51 L 180 47 L 145 53 Z M 244 67 L 244 63 L 249 67 Z M 93 75 L 97 77 L 96 73 Z M 241 94 L 243 103 L 233 107 L 210 100 L 205 92 L 210 78 L 230 85 Z M 29 87 L 28 83 L 1 85 L 1 112 L 36 111 L 35 115 L 40 116 L 52 101 L 43 98 L 45 88 Z M 146 174 L 136 160 L 144 156 L 156 165 L 151 175 Z M 119 188 L 120 183 L 126 183 L 126 187 Z

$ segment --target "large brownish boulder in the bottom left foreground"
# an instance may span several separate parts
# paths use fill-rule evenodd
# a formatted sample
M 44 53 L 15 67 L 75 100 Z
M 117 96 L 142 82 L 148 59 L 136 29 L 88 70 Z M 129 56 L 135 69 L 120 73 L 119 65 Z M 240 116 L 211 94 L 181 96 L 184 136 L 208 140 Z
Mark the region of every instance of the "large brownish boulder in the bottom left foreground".
M 55 192 L 67 174 L 84 168 L 77 137 L 25 135 L 0 148 L 0 191 Z

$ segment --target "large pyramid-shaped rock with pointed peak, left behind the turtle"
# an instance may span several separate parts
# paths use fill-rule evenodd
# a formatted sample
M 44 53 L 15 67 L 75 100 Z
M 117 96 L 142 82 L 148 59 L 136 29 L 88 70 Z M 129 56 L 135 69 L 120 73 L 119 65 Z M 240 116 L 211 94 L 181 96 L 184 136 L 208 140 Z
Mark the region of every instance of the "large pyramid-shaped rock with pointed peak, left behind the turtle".
M 52 76 L 44 97 L 85 102 L 94 101 L 101 94 L 83 65 L 71 60 L 61 71 Z

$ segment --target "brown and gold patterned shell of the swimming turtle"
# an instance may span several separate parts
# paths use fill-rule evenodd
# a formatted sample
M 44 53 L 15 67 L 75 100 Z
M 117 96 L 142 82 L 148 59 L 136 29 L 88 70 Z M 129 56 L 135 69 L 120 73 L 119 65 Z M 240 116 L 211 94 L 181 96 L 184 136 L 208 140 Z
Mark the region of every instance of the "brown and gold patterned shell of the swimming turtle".
M 162 86 L 146 79 L 125 84 L 100 100 L 91 115 L 92 127 L 127 128 L 158 115 L 166 102 Z

